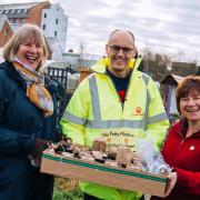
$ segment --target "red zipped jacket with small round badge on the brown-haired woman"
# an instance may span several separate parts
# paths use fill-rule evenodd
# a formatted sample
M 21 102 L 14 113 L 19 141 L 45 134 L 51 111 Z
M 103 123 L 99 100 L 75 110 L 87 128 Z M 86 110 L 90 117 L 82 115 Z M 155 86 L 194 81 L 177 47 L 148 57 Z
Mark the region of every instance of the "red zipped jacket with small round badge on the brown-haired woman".
M 187 139 L 186 132 L 184 121 L 173 124 L 162 149 L 164 161 L 178 174 L 168 200 L 200 200 L 200 131 Z

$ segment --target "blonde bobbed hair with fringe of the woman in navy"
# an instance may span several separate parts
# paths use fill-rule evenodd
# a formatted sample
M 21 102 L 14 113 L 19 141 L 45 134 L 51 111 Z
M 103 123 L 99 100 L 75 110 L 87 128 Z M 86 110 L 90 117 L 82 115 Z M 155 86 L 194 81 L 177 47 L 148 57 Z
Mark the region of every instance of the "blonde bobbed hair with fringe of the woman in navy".
M 37 44 L 40 44 L 43 49 L 43 57 L 38 67 L 38 70 L 41 70 L 42 64 L 46 62 L 48 58 L 48 49 L 44 36 L 40 28 L 36 24 L 26 23 L 21 26 L 14 34 L 10 38 L 3 49 L 3 59 L 4 60 L 13 60 L 14 56 L 18 52 L 19 47 L 24 42 L 31 42 L 32 39 L 36 40 Z

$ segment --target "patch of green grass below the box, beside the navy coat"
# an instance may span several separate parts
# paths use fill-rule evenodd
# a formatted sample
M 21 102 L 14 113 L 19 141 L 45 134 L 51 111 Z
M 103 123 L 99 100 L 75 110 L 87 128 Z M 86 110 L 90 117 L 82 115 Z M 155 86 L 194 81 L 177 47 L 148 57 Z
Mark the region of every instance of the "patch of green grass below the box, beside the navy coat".
M 53 200 L 82 200 L 82 193 L 78 181 L 71 179 L 56 178 Z

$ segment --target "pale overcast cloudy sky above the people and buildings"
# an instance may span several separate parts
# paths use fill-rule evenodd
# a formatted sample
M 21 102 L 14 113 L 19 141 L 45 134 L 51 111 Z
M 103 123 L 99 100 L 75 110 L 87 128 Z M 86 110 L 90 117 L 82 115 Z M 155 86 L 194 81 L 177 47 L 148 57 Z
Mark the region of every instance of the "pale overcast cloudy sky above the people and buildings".
M 0 0 L 0 2 L 16 0 Z M 30 0 L 18 0 L 30 2 Z M 69 17 L 67 51 L 80 43 L 89 53 L 104 54 L 112 30 L 134 33 L 140 52 L 169 53 L 182 60 L 200 60 L 199 0 L 50 0 Z M 173 59 L 176 60 L 176 59 Z

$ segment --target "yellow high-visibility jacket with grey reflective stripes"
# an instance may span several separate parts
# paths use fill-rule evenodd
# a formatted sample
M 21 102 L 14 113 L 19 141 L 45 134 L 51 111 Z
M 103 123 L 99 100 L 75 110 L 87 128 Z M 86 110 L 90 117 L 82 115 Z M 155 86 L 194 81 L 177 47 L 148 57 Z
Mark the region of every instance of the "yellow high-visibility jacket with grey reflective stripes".
M 123 104 L 106 66 L 98 62 L 92 67 L 94 73 L 78 87 L 62 118 L 63 132 L 73 142 L 91 147 L 96 138 L 104 138 L 109 146 L 123 144 L 133 151 L 139 138 L 151 138 L 156 148 L 162 142 L 169 122 L 156 83 L 137 70 L 140 61 L 134 62 Z M 91 183 L 83 183 L 82 190 L 109 200 L 121 199 L 126 193 L 126 199 L 136 196 Z M 107 194 L 106 190 L 109 190 Z

